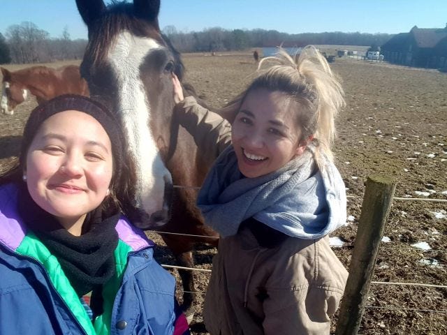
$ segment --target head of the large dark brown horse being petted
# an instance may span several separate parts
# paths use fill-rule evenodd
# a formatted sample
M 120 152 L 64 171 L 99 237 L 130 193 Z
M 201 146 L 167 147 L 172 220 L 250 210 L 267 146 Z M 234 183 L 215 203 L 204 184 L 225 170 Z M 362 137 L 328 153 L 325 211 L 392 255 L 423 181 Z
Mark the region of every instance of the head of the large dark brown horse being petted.
M 172 177 L 163 161 L 170 148 L 175 105 L 172 73 L 182 77 L 179 53 L 163 39 L 160 1 L 134 0 L 106 7 L 103 0 L 76 0 L 89 30 L 81 75 L 91 97 L 108 105 L 122 123 L 133 160 L 131 215 L 140 228 L 168 220 Z

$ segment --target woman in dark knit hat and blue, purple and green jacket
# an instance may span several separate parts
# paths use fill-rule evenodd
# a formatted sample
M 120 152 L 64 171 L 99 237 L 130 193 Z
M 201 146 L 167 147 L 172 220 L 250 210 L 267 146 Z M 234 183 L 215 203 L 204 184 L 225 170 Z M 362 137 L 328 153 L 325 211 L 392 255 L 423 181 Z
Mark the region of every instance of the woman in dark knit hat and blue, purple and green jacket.
M 84 96 L 31 112 L 0 176 L 0 334 L 189 334 L 175 279 L 123 215 L 118 124 Z

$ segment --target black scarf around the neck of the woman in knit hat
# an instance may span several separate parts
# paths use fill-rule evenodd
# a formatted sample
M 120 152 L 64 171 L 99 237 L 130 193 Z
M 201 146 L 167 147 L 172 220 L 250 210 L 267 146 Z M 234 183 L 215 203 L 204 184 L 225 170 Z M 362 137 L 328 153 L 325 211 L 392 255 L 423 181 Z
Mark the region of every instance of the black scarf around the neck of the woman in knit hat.
M 91 308 L 95 315 L 101 314 L 102 285 L 115 274 L 119 214 L 103 220 L 101 209 L 96 209 L 87 214 L 82 234 L 74 236 L 32 200 L 26 186 L 22 186 L 19 199 L 24 223 L 57 258 L 79 297 L 93 291 Z

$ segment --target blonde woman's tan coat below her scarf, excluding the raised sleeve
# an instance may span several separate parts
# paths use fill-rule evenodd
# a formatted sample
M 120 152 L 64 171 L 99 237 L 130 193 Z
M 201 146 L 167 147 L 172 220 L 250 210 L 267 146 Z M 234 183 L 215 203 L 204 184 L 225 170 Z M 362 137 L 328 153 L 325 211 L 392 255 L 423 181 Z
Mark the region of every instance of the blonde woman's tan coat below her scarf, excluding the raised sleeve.
M 219 241 L 205 325 L 212 335 L 329 334 L 347 278 L 328 237 L 268 249 L 245 228 Z

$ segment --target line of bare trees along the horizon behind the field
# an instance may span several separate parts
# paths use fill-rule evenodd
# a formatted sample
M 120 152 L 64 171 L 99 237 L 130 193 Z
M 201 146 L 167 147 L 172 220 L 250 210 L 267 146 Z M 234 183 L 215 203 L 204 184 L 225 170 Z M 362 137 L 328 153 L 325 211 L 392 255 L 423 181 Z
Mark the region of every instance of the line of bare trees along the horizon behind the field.
M 179 52 L 214 52 L 246 50 L 251 47 L 304 47 L 305 45 L 365 45 L 386 43 L 391 34 L 326 33 L 287 34 L 264 29 L 222 29 L 214 27 L 203 31 L 182 32 L 175 26 L 162 31 Z M 72 40 L 65 27 L 61 37 L 50 38 L 47 31 L 32 22 L 13 24 L 0 33 L 0 64 L 31 64 L 82 59 L 87 40 Z

